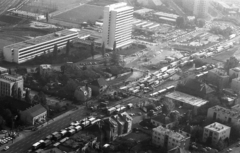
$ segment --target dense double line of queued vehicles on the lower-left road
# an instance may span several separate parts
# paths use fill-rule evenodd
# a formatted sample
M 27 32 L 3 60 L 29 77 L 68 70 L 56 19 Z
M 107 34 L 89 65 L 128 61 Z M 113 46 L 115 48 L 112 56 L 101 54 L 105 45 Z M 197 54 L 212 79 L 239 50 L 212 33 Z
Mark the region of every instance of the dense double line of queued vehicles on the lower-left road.
M 54 146 L 57 147 L 61 143 L 64 143 L 66 140 L 69 139 L 70 136 L 74 135 L 75 133 L 91 126 L 96 123 L 98 123 L 100 119 L 97 119 L 93 116 L 84 118 L 80 121 L 74 121 L 71 122 L 69 127 L 64 128 L 60 131 L 56 131 L 47 137 L 45 137 L 43 140 L 40 140 L 32 145 L 32 148 L 28 152 L 34 152 L 34 153 L 39 153 L 41 152 L 44 148 L 47 148 L 49 146 Z

